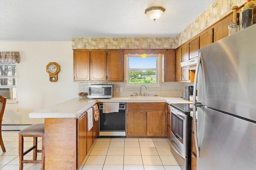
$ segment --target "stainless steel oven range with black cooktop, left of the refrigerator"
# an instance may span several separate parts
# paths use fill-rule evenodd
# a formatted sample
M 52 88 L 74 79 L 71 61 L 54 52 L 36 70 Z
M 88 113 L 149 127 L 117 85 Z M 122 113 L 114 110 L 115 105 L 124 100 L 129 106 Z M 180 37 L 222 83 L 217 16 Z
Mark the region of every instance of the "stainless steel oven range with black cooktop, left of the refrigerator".
M 171 151 L 182 170 L 191 170 L 190 104 L 170 104 Z

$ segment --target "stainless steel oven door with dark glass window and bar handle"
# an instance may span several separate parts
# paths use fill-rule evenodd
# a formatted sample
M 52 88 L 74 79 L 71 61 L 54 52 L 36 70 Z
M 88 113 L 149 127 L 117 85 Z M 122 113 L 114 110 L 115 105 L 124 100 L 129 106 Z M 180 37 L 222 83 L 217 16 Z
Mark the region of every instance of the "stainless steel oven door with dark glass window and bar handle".
M 184 113 L 171 107 L 171 140 L 180 152 L 187 157 L 186 153 L 186 116 Z

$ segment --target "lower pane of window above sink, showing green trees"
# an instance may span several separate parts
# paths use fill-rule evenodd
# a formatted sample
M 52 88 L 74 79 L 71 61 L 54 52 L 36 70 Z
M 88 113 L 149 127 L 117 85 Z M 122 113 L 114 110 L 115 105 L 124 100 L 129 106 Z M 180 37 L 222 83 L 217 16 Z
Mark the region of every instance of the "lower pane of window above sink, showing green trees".
M 129 83 L 156 83 L 156 70 L 129 71 Z

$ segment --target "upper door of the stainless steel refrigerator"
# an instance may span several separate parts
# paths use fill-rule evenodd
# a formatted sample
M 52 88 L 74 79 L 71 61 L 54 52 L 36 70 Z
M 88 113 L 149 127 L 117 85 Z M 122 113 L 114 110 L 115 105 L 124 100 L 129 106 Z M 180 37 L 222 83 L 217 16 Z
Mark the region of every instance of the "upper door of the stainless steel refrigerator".
M 256 24 L 199 50 L 198 102 L 256 121 Z

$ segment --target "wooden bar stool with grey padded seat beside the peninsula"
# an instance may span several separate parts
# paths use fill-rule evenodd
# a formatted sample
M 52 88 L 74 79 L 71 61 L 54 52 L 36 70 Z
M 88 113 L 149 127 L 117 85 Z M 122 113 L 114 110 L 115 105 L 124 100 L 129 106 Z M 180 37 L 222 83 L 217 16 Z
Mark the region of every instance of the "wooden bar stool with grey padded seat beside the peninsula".
M 44 170 L 44 123 L 38 123 L 31 125 L 21 131 L 19 134 L 19 158 L 20 158 L 20 170 L 23 170 L 24 163 L 30 164 L 42 164 L 42 170 Z M 33 137 L 33 146 L 24 152 L 24 139 L 23 137 Z M 37 138 L 42 137 L 42 150 L 37 149 Z M 24 160 L 24 155 L 33 150 L 33 160 Z M 42 160 L 37 160 L 37 153 L 42 153 Z

